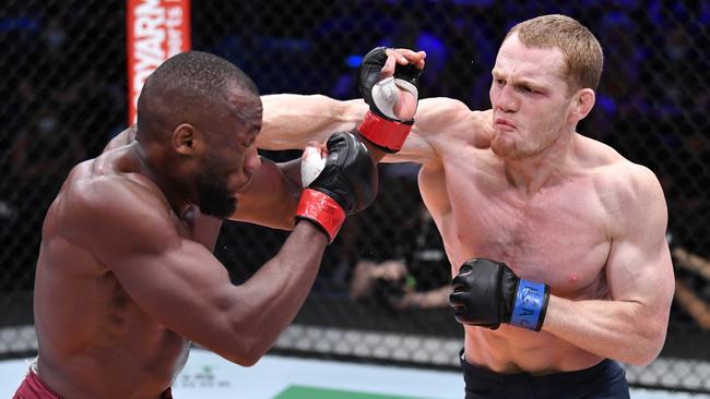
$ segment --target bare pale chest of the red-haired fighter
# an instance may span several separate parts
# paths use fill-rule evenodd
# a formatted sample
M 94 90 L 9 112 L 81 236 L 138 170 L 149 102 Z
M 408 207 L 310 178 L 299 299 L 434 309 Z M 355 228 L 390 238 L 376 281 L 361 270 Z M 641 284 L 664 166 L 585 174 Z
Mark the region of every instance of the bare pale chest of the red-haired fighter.
M 581 181 L 521 198 L 464 176 L 447 174 L 449 210 L 434 215 L 452 273 L 469 258 L 487 257 L 505 262 L 522 278 L 549 285 L 558 295 L 605 290 L 611 242 L 592 185 Z

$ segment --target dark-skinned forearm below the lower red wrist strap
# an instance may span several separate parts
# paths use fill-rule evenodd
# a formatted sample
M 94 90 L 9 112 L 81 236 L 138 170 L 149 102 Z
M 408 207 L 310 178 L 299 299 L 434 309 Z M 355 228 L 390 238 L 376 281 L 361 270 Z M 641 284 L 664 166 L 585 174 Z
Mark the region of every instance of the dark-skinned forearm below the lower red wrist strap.
M 228 315 L 230 338 L 239 349 L 240 364 L 256 363 L 291 324 L 316 279 L 328 238 L 315 225 L 297 223 L 279 254 L 247 282 L 237 287 Z

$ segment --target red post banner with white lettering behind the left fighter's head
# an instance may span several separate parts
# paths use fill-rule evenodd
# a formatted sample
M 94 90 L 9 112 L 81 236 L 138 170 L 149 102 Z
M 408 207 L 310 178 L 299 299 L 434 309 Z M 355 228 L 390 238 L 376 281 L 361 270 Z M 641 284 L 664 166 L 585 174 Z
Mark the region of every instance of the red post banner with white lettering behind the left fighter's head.
M 145 78 L 168 58 L 190 49 L 190 0 L 127 0 L 128 122 Z

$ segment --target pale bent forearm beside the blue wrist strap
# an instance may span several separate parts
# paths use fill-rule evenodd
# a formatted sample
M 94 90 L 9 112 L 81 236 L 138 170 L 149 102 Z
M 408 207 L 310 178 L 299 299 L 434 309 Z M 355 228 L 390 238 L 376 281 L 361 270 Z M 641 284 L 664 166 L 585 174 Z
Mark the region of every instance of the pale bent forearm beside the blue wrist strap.
M 667 316 L 650 315 L 643 306 L 551 295 L 543 329 L 600 356 L 643 365 L 661 351 L 667 325 Z

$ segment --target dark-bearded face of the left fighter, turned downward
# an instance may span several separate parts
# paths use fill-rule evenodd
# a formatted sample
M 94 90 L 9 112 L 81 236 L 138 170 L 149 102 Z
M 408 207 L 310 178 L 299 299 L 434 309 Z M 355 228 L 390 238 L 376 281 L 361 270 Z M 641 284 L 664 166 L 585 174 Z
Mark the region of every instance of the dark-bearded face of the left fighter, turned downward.
M 241 100 L 220 123 L 196 179 L 203 214 L 227 218 L 237 209 L 237 193 L 251 182 L 261 161 L 256 138 L 261 131 L 261 100 Z

